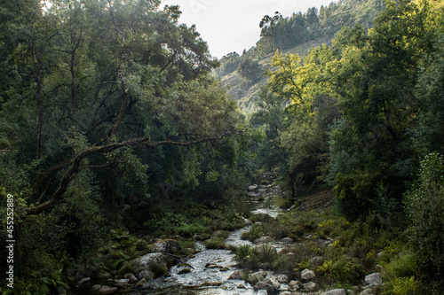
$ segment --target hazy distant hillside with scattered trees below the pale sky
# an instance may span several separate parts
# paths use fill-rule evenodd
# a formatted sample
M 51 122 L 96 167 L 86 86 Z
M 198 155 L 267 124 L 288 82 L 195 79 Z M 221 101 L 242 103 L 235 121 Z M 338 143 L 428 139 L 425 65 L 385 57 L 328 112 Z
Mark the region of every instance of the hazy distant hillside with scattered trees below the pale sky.
M 232 52 L 221 58 L 221 66 L 213 75 L 226 86 L 243 112 L 255 113 L 258 91 L 266 84 L 262 73 L 270 67 L 276 50 L 305 56 L 323 43 L 330 45 L 343 27 L 373 27 L 373 19 L 382 8 L 375 0 L 345 0 L 319 9 L 313 7 L 305 13 L 294 12 L 288 18 L 279 12 L 273 18 L 266 15 L 259 24 L 262 31 L 256 46 L 244 50 L 242 55 Z

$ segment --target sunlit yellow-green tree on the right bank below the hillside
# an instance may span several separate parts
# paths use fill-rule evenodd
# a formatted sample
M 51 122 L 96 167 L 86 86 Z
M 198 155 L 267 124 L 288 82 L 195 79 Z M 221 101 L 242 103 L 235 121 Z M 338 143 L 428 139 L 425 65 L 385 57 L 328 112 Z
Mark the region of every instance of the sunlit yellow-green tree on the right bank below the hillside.
M 329 125 L 338 116 L 329 80 L 337 57 L 328 47 L 315 48 L 303 59 L 276 52 L 267 87 L 286 106 L 285 128 L 279 132 L 287 153 L 291 189 L 300 193 L 323 181 L 328 164 Z

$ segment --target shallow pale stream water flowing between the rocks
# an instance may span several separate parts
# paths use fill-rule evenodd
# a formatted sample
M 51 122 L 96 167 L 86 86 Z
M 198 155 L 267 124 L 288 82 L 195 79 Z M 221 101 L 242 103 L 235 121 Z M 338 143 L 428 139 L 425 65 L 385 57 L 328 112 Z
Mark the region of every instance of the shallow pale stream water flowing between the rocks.
M 274 196 L 266 196 L 262 201 L 258 198 L 250 198 L 252 207 L 256 207 L 252 213 L 266 213 L 276 217 L 281 211 L 275 202 Z M 250 229 L 247 226 L 234 230 L 226 238 L 226 245 L 254 245 L 250 241 L 242 240 L 242 233 Z M 275 243 L 274 247 L 281 248 L 282 245 Z M 133 295 L 166 295 L 166 294 L 200 294 L 200 295 L 224 295 L 224 294 L 266 294 L 266 291 L 255 291 L 250 283 L 243 280 L 228 280 L 228 277 L 235 270 L 239 270 L 235 265 L 234 253 L 229 250 L 206 249 L 202 242 L 196 242 L 197 252 L 194 258 L 186 260 L 187 266 L 174 266 L 170 268 L 170 276 L 159 277 L 148 281 L 141 290 L 131 293 Z M 210 267 L 209 267 L 210 266 Z M 191 272 L 180 274 L 184 268 Z M 202 284 L 204 286 L 202 286 Z M 205 285 L 209 284 L 209 285 Z

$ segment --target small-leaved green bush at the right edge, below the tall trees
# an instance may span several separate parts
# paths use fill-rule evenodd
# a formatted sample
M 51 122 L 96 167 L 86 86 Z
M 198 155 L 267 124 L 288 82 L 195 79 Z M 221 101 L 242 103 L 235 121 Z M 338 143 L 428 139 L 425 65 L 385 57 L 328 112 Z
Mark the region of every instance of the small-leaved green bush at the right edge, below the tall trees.
M 431 153 L 421 162 L 413 189 L 406 194 L 408 236 L 424 273 L 444 274 L 444 159 Z

